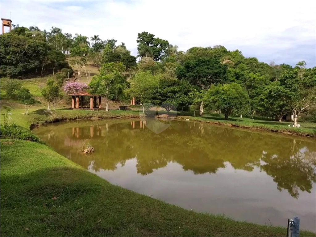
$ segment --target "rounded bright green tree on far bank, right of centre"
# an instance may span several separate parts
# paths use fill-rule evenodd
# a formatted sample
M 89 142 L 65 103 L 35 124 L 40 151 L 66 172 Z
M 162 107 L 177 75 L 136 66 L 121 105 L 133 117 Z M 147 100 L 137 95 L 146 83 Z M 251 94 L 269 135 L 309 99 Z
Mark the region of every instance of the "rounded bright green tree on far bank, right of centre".
M 227 120 L 229 115 L 242 114 L 247 109 L 248 95 L 240 84 L 218 84 L 206 91 L 204 100 L 207 107 L 221 110 Z

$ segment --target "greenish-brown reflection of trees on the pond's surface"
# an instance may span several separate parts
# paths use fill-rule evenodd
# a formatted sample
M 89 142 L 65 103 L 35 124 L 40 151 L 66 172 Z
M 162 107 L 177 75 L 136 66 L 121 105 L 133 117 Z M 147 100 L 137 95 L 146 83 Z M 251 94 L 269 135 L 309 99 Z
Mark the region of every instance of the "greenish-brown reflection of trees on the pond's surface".
M 300 190 L 310 193 L 316 182 L 314 140 L 194 122 L 173 121 L 159 134 L 148 129 L 165 127 L 155 120 L 73 124 L 46 126 L 35 133 L 59 153 L 95 171 L 115 170 L 136 158 L 141 175 L 169 162 L 194 174 L 214 174 L 229 162 L 236 170 L 251 172 L 259 167 L 273 178 L 278 190 L 286 189 L 296 199 Z M 80 152 L 87 141 L 95 148 L 91 155 Z

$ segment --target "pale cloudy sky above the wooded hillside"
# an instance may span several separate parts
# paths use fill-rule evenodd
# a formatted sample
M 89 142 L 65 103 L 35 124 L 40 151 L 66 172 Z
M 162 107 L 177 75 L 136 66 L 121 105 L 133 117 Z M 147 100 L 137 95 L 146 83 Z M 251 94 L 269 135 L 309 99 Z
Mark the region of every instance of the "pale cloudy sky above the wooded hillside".
M 315 2 L 1 0 L 0 16 L 25 27 L 55 26 L 73 36 L 114 38 L 134 56 L 137 33 L 146 31 L 182 51 L 222 45 L 265 63 L 294 66 L 306 60 L 307 67 L 314 67 Z

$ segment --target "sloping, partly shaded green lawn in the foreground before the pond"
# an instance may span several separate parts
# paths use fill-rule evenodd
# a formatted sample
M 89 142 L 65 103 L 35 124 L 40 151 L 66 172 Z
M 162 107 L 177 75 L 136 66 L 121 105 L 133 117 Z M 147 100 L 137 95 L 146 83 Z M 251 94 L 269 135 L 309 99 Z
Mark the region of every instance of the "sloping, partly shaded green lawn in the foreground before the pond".
M 45 145 L 0 143 L 1 236 L 286 235 L 286 228 L 196 213 L 112 185 Z

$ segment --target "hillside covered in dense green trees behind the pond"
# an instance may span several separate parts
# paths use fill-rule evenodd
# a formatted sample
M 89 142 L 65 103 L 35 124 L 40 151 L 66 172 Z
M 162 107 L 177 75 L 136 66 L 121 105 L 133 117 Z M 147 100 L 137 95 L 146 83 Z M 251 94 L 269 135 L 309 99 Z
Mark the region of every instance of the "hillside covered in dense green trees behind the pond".
M 61 98 L 73 73 L 77 78 L 85 75 L 91 93 L 125 103 L 134 98 L 137 104 L 161 106 L 168 113 L 198 106 L 200 115 L 216 111 L 225 114 L 225 119 L 257 115 L 276 121 L 291 113 L 294 126 L 302 113 L 315 117 L 316 67 L 306 68 L 305 61 L 294 67 L 267 64 L 221 45 L 183 52 L 148 32 L 139 33 L 136 41 L 138 55 L 134 57 L 115 39 L 72 37 L 57 27 L 48 32 L 15 26 L 0 36 L 0 76 L 16 82 L 15 78 L 53 74 L 57 80 L 54 86 L 60 89 L 55 94 Z M 91 73 L 88 64 L 97 68 L 98 75 Z M 52 81 L 47 83 L 44 94 L 52 86 Z M 15 84 L 1 85 L 12 99 L 21 88 L 12 88 Z M 44 97 L 51 96 L 48 94 Z

